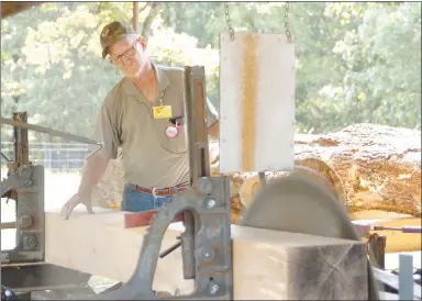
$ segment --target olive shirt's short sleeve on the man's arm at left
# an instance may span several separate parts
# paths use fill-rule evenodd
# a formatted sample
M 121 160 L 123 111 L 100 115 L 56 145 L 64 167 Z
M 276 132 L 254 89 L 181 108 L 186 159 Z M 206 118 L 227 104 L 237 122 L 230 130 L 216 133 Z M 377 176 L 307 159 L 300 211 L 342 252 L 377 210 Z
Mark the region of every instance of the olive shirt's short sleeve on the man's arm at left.
M 93 140 L 102 144 L 100 150 L 106 157 L 115 159 L 120 146 L 118 110 L 112 99 L 107 98 L 97 118 Z

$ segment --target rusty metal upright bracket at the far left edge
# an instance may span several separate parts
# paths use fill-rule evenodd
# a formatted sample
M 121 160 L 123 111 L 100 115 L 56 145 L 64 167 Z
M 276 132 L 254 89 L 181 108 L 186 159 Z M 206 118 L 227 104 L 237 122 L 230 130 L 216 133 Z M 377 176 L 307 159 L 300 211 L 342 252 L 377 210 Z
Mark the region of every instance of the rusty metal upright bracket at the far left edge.
M 26 112 L 14 112 L 13 123 L 25 124 Z M 44 260 L 44 167 L 30 163 L 27 129 L 13 129 L 14 161 L 9 160 L 8 177 L 0 196 L 16 200 L 16 222 L 1 228 L 16 228 L 16 246 L 1 252 L 1 263 Z

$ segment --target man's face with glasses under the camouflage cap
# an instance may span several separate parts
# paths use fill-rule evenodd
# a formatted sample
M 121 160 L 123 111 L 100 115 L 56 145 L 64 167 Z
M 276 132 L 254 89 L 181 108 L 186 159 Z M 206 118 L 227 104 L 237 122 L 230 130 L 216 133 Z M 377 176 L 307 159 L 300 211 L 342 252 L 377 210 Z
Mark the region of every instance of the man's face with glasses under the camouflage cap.
M 130 36 L 110 46 L 109 55 L 113 64 L 119 67 L 126 77 L 142 75 L 145 63 L 145 40 Z

